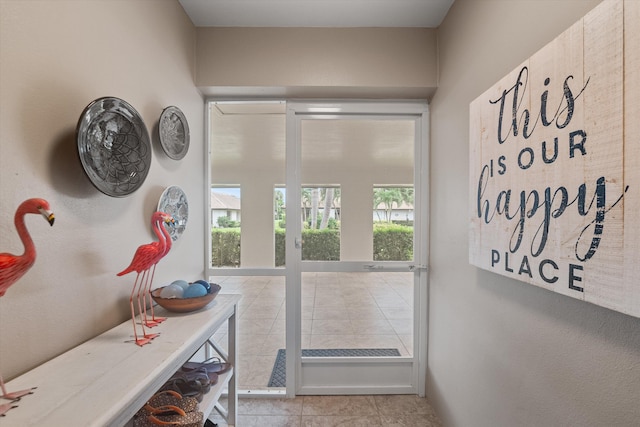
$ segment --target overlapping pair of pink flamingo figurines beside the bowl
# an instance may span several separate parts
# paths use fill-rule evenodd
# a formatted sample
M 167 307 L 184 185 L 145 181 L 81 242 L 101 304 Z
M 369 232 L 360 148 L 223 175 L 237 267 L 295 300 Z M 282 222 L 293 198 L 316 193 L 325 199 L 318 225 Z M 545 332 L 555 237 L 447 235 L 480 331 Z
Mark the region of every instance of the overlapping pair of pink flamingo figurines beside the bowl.
M 117 274 L 117 276 L 123 276 L 125 274 L 131 273 L 132 271 L 138 273 L 136 276 L 136 280 L 133 283 L 133 289 L 131 290 L 131 296 L 129 297 L 129 304 L 131 306 L 131 320 L 133 322 L 133 335 L 135 343 L 141 347 L 145 344 L 148 344 L 152 339 L 158 336 L 158 334 L 148 334 L 144 328 L 145 323 L 147 322 L 144 318 L 146 317 L 146 307 L 143 311 L 140 296 L 146 287 L 149 269 L 153 267 L 160 260 L 159 257 L 161 257 L 161 255 L 165 253 L 166 241 L 163 232 L 160 231 L 160 228 L 164 229 L 164 224 L 173 222 L 174 220 L 170 215 L 167 215 L 164 212 L 155 212 L 151 217 L 151 227 L 153 228 L 153 232 L 155 233 L 155 235 L 158 237 L 158 241 L 139 246 L 135 254 L 133 255 L 131 264 L 129 264 L 127 268 Z M 140 313 L 141 317 L 142 337 L 138 337 L 138 331 L 136 327 L 136 314 L 133 304 L 133 298 L 134 295 L 136 295 L 136 290 L 138 290 L 136 302 L 138 305 L 138 312 Z M 142 296 L 144 299 L 144 295 Z

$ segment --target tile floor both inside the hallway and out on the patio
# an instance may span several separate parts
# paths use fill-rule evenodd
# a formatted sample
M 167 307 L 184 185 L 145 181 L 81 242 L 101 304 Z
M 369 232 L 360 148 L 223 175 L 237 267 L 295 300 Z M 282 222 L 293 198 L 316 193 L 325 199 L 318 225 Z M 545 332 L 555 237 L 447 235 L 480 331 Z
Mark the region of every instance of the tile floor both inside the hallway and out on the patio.
M 267 390 L 277 351 L 285 347 L 284 278 L 210 280 L 222 293 L 242 295 L 239 389 Z M 403 356 L 412 354 L 411 273 L 305 273 L 302 301 L 302 348 L 397 348 Z M 214 338 L 226 347 L 226 327 Z M 239 427 L 442 426 L 429 402 L 415 395 L 241 396 L 238 414 Z M 227 426 L 215 411 L 210 419 Z

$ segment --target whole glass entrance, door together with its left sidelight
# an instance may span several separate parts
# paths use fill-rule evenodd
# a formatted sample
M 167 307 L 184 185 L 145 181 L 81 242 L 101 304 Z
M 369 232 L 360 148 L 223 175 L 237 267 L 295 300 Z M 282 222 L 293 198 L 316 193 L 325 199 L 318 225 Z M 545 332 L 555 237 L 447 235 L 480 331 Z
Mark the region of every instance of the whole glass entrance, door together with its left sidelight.
M 209 103 L 209 275 L 239 389 L 424 394 L 427 106 Z

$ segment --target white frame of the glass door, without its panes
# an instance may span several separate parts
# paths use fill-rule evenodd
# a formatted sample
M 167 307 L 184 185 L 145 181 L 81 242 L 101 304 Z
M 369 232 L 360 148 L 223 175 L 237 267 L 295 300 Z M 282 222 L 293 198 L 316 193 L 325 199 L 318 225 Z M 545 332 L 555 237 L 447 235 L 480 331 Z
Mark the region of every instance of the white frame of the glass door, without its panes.
M 300 221 L 287 221 L 286 230 L 286 353 L 295 355 L 286 361 L 286 394 L 418 394 L 425 395 L 427 369 L 427 309 L 428 309 L 428 212 L 429 212 L 429 117 L 424 102 L 349 102 L 349 101 L 295 101 L 286 107 L 286 187 L 301 185 L 301 126 L 306 119 L 397 117 L 415 120 L 414 142 L 414 261 L 375 263 L 376 271 L 414 272 L 413 356 L 404 358 L 376 358 L 373 360 L 350 358 L 301 358 L 302 295 L 300 280 L 305 271 L 301 260 Z M 296 218 L 301 206 L 299 191 L 287 191 L 287 218 Z M 327 271 L 366 270 L 368 263 L 327 263 Z M 317 266 L 317 264 L 316 264 Z M 345 269 L 345 270 L 343 270 Z M 314 270 L 315 271 L 315 270 Z M 366 363 L 362 363 L 365 361 Z M 388 385 L 364 384 L 357 387 L 332 387 L 303 384 L 303 378 L 323 376 L 323 369 L 334 372 L 352 372 L 361 369 L 362 374 L 374 372 L 378 378 L 386 378 Z M 325 371 L 326 372 L 326 371 Z M 400 375 L 399 375 L 400 374 Z M 393 383 L 396 383 L 393 385 Z

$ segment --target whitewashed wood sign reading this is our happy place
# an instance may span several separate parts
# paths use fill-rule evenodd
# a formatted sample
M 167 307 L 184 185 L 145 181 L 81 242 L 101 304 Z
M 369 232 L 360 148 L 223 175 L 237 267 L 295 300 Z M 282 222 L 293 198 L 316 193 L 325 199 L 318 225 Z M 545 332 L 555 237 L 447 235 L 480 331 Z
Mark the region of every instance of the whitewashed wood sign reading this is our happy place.
M 470 263 L 640 317 L 640 2 L 475 99 L 469 144 Z

